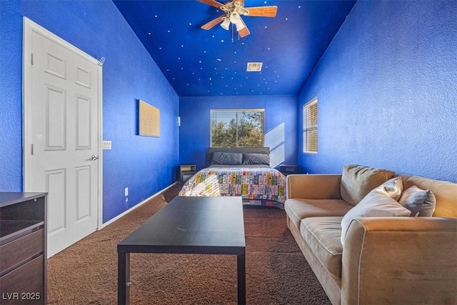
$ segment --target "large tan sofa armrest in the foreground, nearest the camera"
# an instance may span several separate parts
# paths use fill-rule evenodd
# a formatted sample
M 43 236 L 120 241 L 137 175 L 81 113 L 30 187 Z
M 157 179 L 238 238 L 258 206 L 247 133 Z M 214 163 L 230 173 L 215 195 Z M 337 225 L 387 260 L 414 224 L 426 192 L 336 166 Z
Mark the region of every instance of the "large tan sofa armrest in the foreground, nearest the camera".
M 457 304 L 457 219 L 373 217 L 351 222 L 341 304 Z

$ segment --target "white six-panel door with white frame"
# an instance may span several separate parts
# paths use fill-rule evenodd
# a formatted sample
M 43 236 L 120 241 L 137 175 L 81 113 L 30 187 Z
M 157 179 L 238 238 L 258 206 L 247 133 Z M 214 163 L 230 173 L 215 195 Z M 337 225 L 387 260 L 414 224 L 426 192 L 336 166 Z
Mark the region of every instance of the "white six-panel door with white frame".
M 84 52 L 26 23 L 24 189 L 49 193 L 50 257 L 97 229 L 101 69 Z

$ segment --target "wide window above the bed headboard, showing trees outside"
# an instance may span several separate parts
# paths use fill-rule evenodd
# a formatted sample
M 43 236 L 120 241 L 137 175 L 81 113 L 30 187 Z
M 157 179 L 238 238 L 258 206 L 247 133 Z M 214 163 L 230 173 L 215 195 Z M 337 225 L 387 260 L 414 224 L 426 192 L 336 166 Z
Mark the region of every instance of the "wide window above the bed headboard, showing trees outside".
M 264 109 L 211 109 L 211 147 L 263 147 Z

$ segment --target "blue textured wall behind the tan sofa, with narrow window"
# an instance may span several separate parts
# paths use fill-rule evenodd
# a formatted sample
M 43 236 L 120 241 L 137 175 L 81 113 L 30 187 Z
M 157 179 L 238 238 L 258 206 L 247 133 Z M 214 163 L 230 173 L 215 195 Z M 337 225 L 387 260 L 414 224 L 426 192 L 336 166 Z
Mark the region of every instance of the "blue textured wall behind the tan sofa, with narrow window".
M 457 1 L 356 3 L 298 96 L 299 121 L 318 96 L 305 171 L 356 163 L 457 182 L 456 16 Z

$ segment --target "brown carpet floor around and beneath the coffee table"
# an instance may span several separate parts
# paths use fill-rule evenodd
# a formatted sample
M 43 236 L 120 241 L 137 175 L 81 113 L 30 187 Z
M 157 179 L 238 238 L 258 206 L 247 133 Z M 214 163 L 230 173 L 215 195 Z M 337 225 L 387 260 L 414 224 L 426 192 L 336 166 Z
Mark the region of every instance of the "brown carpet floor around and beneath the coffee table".
M 48 304 L 116 304 L 116 245 L 178 194 L 161 196 L 48 260 Z M 245 208 L 247 304 L 330 304 L 279 209 Z M 131 304 L 236 304 L 236 256 L 131 254 Z

